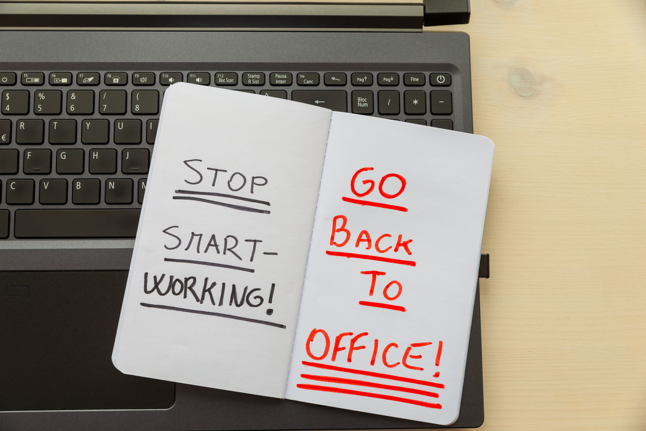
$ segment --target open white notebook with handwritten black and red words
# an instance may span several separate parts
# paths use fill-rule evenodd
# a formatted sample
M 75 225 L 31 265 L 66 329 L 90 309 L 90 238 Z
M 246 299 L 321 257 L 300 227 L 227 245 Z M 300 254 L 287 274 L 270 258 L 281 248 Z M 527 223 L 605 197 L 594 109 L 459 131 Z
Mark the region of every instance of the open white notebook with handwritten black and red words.
M 452 423 L 493 154 L 482 136 L 172 85 L 114 365 Z

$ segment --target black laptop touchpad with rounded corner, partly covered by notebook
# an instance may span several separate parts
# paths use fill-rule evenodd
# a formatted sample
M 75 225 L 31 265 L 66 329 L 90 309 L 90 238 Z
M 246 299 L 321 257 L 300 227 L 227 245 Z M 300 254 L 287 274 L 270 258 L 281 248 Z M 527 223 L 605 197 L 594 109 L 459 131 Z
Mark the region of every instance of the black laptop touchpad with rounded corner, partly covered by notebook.
M 127 275 L 0 272 L 0 411 L 173 405 L 174 383 L 110 361 Z

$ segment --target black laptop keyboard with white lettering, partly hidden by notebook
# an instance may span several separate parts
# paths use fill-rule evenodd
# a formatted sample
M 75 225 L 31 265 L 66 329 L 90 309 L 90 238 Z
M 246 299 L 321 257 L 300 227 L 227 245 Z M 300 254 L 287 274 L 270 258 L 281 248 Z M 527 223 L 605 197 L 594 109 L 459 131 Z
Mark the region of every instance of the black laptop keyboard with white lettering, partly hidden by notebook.
M 0 72 L 0 238 L 134 238 L 163 92 L 180 81 L 453 129 L 444 70 Z

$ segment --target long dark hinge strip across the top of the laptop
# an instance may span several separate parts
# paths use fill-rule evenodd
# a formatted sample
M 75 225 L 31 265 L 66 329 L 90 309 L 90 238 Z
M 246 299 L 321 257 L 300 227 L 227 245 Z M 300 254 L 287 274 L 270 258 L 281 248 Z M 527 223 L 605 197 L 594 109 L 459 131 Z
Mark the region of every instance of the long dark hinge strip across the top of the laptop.
M 423 0 L 298 2 L 0 0 L 0 28 L 421 31 Z

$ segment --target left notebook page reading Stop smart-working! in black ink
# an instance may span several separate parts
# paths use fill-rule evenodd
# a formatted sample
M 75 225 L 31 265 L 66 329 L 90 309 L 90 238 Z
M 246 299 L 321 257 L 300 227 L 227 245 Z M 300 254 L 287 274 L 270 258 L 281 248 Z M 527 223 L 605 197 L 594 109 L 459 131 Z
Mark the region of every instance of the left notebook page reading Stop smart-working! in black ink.
M 121 372 L 284 396 L 330 113 L 186 83 L 166 90 L 112 354 Z M 181 283 L 162 296 L 171 275 Z

